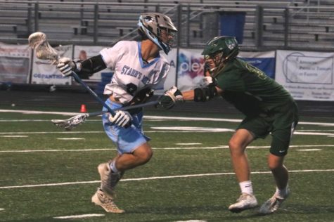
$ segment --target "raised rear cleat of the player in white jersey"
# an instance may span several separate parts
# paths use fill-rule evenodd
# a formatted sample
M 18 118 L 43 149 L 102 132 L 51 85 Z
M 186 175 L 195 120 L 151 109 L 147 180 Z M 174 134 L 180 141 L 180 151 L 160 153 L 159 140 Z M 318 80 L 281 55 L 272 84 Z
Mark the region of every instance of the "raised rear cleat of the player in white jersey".
M 109 163 L 103 163 L 98 165 L 98 174 L 101 176 L 101 189 L 103 192 L 112 196 L 114 194 L 115 185 L 120 181 L 122 173 L 113 173 Z

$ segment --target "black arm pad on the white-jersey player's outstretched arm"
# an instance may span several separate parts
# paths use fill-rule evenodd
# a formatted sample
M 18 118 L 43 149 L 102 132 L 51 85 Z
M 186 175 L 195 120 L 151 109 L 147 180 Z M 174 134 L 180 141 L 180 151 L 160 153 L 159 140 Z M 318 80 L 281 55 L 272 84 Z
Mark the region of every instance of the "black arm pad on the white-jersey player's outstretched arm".
M 81 70 L 77 74 L 82 79 L 88 79 L 88 77 L 91 77 L 95 72 L 104 70 L 107 67 L 103 61 L 102 55 L 93 56 L 82 61 L 81 64 Z

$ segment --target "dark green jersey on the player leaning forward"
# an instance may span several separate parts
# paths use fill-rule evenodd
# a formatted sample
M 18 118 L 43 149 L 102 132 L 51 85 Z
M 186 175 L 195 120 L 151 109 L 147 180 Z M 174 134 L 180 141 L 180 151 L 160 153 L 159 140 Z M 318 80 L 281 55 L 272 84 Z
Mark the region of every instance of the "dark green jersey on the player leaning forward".
M 277 112 L 293 103 L 283 86 L 239 58 L 226 63 L 216 77 L 223 98 L 246 116 Z

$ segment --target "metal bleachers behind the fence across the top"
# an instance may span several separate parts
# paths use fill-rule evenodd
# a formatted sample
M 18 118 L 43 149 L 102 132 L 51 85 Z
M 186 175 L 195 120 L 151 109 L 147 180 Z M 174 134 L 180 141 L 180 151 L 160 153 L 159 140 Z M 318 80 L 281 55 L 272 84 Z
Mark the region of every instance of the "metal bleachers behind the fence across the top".
M 26 44 L 29 34 L 41 31 L 53 44 L 110 46 L 135 39 L 139 14 L 150 11 L 172 18 L 181 47 L 203 47 L 219 35 L 221 13 L 243 12 L 244 50 L 334 49 L 334 1 L 329 0 L 0 0 L 0 41 Z

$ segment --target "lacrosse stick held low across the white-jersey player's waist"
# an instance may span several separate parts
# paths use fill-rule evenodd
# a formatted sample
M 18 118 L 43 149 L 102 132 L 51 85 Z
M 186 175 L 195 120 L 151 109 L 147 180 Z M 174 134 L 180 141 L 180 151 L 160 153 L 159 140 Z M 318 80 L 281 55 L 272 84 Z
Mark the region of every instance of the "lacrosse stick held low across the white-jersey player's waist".
M 149 105 L 155 105 L 157 103 L 159 103 L 159 102 L 158 101 L 151 101 L 151 102 L 143 103 L 143 104 L 139 104 L 139 105 L 129 105 L 129 106 L 126 106 L 126 107 L 117 108 L 114 111 L 117 111 L 117 110 L 131 110 L 131 109 L 141 108 L 141 107 L 145 107 L 145 106 L 149 106 Z M 73 128 L 75 128 L 77 125 L 84 123 L 86 121 L 86 118 L 96 117 L 96 116 L 99 116 L 99 115 L 103 115 L 107 112 L 108 111 L 83 113 L 83 114 L 76 115 L 74 117 L 70 117 L 70 119 L 52 119 L 51 122 L 53 122 L 53 124 L 55 124 L 56 126 L 59 126 L 60 128 L 63 128 L 67 131 L 70 131 Z

